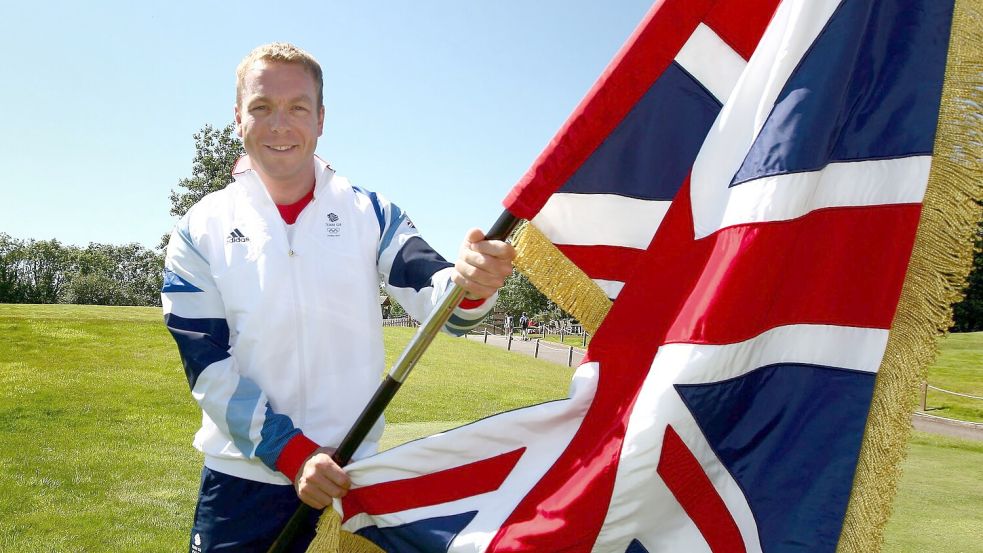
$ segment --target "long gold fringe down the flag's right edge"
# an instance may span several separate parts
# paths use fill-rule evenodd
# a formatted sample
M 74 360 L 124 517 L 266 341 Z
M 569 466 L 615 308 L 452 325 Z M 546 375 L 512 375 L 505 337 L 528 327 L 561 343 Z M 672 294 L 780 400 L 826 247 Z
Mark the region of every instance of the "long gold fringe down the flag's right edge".
M 952 325 L 983 201 L 983 0 L 957 0 L 932 170 L 887 351 L 874 385 L 839 553 L 881 548 L 916 391 Z

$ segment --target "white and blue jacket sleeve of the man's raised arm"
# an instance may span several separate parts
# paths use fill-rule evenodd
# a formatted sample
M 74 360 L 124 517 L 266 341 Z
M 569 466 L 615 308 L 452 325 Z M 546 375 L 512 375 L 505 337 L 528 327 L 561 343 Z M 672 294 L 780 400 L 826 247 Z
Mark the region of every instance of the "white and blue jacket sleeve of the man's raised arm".
M 377 266 L 386 291 L 411 317 L 424 320 L 450 286 L 453 264 L 427 244 L 396 204 L 373 192 L 356 188 L 356 193 L 371 202 L 379 220 Z M 464 300 L 443 330 L 454 336 L 467 334 L 491 311 L 497 297 L 496 293 L 486 300 Z

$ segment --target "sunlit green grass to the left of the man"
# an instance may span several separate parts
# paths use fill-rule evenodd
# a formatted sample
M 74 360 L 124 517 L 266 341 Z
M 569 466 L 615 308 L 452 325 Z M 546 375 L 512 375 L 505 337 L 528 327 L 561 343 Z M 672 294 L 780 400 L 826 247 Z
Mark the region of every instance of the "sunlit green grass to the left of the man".
M 0 333 L 0 551 L 178 550 L 200 415 L 160 311 L 3 305 Z

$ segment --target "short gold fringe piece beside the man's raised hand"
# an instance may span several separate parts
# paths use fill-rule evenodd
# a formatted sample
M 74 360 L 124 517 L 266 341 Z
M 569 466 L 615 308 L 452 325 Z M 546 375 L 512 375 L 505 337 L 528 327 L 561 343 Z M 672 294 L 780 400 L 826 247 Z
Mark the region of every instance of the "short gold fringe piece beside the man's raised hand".
M 550 300 L 580 321 L 590 333 L 597 331 L 611 310 L 611 300 L 589 276 L 573 264 L 531 223 L 512 234 L 515 266 Z

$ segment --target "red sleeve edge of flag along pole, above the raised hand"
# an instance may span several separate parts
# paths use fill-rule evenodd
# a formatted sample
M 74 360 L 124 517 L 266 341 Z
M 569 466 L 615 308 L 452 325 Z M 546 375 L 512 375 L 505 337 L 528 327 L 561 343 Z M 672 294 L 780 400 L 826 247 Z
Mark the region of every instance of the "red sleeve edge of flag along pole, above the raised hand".
M 601 145 L 689 40 L 713 0 L 656 2 L 587 96 L 502 202 L 532 219 Z

